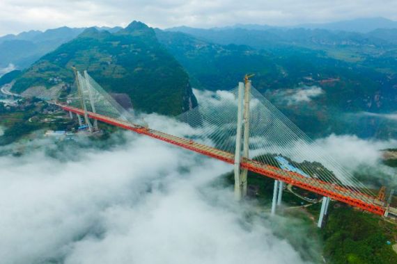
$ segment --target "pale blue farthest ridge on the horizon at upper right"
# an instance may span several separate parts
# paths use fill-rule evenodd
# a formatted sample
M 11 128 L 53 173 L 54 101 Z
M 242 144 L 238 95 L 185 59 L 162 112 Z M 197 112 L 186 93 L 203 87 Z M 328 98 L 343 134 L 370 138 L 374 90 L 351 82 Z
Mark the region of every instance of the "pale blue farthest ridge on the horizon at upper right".
M 377 28 L 397 28 L 397 22 L 384 17 L 359 18 L 324 24 L 300 24 L 295 28 L 321 28 L 332 31 L 368 33 Z

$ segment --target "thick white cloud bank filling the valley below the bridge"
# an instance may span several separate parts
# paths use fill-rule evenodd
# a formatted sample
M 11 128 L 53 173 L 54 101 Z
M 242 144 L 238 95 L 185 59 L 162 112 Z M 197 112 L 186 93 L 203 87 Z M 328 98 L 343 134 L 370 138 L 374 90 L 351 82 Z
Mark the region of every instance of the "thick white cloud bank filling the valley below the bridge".
M 2 263 L 304 263 L 268 220 L 244 219 L 254 207 L 233 201 L 232 188 L 213 185 L 231 165 L 133 133 L 114 137 L 123 144 L 45 139 L 1 156 Z

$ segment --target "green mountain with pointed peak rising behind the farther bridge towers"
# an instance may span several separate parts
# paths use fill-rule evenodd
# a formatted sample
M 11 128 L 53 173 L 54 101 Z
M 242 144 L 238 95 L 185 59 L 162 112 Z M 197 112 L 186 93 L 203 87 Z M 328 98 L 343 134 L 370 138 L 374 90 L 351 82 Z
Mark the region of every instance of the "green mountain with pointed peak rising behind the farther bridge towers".
M 108 92 L 127 94 L 137 110 L 176 115 L 196 106 L 189 76 L 141 22 L 116 33 L 87 28 L 26 69 L 12 91 L 58 97 L 74 83 L 72 66 Z

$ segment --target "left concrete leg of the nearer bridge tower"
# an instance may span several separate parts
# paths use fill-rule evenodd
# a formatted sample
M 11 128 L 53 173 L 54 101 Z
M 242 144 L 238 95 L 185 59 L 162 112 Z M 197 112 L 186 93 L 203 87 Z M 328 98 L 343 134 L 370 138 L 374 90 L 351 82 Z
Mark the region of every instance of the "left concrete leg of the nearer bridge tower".
M 244 83 L 238 83 L 238 114 L 237 114 L 237 131 L 235 138 L 235 156 L 234 156 L 234 194 L 235 199 L 240 200 L 242 197 L 242 179 L 240 173 L 241 162 L 241 138 L 242 138 L 242 118 L 243 118 L 243 100 Z

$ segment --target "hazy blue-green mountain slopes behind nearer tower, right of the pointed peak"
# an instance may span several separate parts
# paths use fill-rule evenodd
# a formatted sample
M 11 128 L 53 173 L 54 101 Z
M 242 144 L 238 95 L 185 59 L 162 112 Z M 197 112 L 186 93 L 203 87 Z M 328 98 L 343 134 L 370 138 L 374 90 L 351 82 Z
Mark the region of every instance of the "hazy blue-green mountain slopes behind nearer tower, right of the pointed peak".
M 254 31 L 256 35 L 238 28 L 194 31 L 197 36 L 160 30 L 156 34 L 185 67 L 196 88 L 229 90 L 244 74 L 254 73 L 256 89 L 313 137 L 329 133 L 397 135 L 396 124 L 382 118 L 382 113 L 397 111 L 396 61 L 381 65 L 380 61 L 386 64 L 387 60 L 380 54 L 365 56 L 361 63 L 336 59 L 325 52 L 325 44 L 312 49 L 296 42 L 277 44 L 277 34 L 267 35 L 267 31 Z M 296 35 L 288 34 L 289 38 L 298 39 L 299 31 L 310 30 L 290 30 Z M 240 34 L 244 32 L 247 35 Z M 334 49 L 345 51 L 337 45 Z M 378 113 L 379 118 L 364 113 Z

